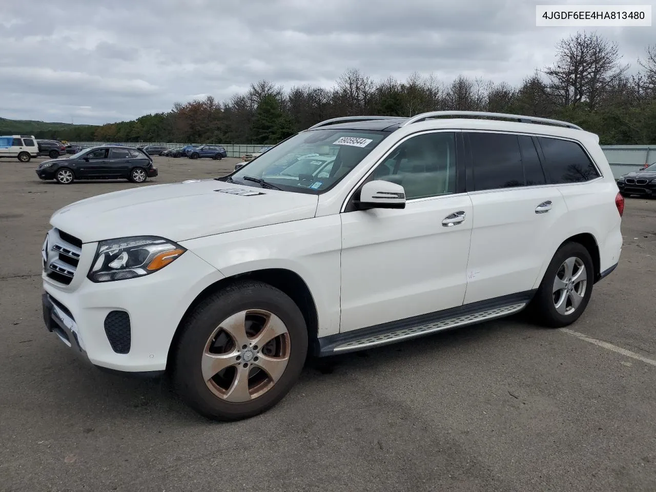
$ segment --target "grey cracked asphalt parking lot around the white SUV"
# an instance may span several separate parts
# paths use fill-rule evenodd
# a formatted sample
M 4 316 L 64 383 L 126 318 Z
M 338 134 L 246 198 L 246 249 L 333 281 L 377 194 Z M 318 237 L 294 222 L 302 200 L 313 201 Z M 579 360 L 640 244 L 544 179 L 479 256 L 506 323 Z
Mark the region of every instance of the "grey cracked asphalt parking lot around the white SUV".
M 141 186 L 236 162 L 155 160 Z M 619 268 L 569 327 L 630 352 L 520 315 L 313 361 L 277 407 L 221 424 L 47 333 L 52 211 L 137 185 L 40 182 L 38 162 L 0 161 L 0 491 L 656 490 L 656 200 L 626 200 Z

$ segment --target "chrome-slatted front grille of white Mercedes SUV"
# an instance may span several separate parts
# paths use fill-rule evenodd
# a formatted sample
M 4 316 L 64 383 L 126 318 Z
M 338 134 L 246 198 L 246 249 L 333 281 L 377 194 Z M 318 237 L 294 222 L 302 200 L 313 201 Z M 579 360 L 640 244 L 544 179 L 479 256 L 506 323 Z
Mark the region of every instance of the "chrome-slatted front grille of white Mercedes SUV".
M 82 241 L 54 228 L 48 233 L 41 251 L 46 276 L 64 285 L 70 284 L 82 255 Z

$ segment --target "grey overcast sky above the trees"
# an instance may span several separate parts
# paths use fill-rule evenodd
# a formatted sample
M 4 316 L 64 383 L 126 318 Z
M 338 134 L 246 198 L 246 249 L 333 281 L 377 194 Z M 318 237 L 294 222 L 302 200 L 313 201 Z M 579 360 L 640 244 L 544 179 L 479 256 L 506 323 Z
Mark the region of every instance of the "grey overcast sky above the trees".
M 329 87 L 347 68 L 375 79 L 417 71 L 516 84 L 576 31 L 535 27 L 543 3 L 590 2 L 14 1 L 0 16 L 0 117 L 109 123 L 206 94 L 226 100 L 258 79 Z M 656 27 L 596 30 L 634 68 L 656 40 Z

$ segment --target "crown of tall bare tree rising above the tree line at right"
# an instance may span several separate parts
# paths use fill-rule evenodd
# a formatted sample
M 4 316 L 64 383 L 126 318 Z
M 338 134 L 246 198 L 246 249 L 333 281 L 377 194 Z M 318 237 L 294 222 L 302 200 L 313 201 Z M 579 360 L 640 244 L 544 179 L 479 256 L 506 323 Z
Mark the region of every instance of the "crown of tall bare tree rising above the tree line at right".
M 550 79 L 549 92 L 561 106 L 585 101 L 594 110 L 609 83 L 626 73 L 629 66 L 619 64 L 617 43 L 597 33 L 576 33 L 556 44 L 558 60 L 544 73 Z

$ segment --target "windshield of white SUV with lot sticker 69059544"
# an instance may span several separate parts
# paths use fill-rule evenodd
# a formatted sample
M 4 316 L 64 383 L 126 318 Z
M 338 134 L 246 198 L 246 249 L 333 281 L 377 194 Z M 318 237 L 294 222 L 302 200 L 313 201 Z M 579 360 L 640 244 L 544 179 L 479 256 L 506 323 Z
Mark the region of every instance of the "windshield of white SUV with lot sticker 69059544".
M 254 186 L 253 181 L 244 179 L 250 176 L 281 190 L 319 194 L 350 173 L 388 134 L 341 129 L 305 131 L 239 167 L 230 178 Z

